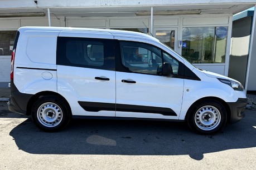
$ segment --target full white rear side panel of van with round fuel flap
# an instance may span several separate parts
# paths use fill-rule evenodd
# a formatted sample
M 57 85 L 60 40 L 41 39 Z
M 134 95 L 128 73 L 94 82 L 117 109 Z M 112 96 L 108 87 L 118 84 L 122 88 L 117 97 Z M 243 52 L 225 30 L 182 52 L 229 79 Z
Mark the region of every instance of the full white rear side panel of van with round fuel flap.
M 18 91 L 57 92 L 57 31 L 21 30 L 15 53 L 14 83 Z

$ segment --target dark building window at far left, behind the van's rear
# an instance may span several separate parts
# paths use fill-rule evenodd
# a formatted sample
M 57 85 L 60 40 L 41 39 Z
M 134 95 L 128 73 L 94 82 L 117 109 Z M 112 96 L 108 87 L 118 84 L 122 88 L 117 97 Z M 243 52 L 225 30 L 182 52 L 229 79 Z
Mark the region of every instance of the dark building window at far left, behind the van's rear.
M 17 31 L 0 31 L 0 56 L 11 56 Z

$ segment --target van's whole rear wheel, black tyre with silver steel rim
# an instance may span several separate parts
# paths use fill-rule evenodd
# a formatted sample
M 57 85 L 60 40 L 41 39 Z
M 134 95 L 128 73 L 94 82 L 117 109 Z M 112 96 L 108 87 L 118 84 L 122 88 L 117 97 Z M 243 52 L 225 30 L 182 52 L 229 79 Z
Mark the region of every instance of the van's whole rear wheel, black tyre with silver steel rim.
M 67 103 L 54 95 L 41 96 L 33 103 L 31 117 L 35 125 L 46 132 L 64 129 L 71 120 Z

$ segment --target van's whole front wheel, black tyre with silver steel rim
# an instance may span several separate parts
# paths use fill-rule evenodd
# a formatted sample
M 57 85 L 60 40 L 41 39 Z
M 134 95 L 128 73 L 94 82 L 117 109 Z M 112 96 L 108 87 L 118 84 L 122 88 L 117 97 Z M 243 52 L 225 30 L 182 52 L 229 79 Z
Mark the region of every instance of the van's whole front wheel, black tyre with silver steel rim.
M 192 107 L 187 116 L 189 127 L 200 134 L 214 134 L 226 124 L 226 109 L 215 99 L 200 101 Z

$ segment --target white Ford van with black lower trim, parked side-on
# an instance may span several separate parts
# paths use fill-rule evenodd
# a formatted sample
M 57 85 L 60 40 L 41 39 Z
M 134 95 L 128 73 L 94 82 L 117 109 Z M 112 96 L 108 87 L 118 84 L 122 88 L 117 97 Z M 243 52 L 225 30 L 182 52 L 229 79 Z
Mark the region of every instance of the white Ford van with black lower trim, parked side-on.
M 137 32 L 21 27 L 11 68 L 9 110 L 44 131 L 71 118 L 127 118 L 186 121 L 210 134 L 243 118 L 247 103 L 238 81 Z

